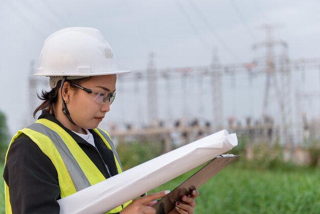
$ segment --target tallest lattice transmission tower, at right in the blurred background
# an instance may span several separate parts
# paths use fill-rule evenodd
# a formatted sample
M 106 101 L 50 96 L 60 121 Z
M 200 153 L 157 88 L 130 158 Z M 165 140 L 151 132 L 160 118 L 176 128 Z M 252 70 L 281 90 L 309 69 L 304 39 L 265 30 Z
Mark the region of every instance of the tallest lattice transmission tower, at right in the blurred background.
M 290 145 L 293 143 L 291 135 L 292 125 L 292 108 L 291 108 L 291 71 L 288 58 L 288 46 L 286 42 L 275 40 L 272 37 L 274 26 L 264 25 L 262 27 L 267 34 L 266 40 L 254 45 L 254 49 L 263 47 L 266 49 L 264 72 L 265 90 L 263 97 L 262 117 L 264 121 L 270 118 L 277 118 L 277 115 L 272 115 L 270 111 L 272 90 L 276 93 L 276 98 L 280 109 L 280 143 Z M 276 47 L 280 47 L 281 54 L 276 53 Z M 276 130 L 273 130 L 273 133 Z M 276 136 L 276 135 L 272 135 Z M 271 142 L 275 142 L 275 138 L 271 138 Z

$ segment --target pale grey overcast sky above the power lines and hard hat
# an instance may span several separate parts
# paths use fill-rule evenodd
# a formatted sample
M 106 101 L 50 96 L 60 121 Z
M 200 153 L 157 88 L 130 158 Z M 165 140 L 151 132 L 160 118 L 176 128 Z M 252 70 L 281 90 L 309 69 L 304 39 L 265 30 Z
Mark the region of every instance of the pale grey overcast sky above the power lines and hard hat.
M 317 0 L 0 0 L 0 110 L 11 133 L 24 125 L 30 61 L 61 28 L 99 29 L 123 70 L 145 69 L 151 51 L 157 68 L 208 65 L 213 47 L 222 63 L 248 62 L 263 24 L 278 26 L 273 37 L 290 58 L 320 58 L 319 8 Z

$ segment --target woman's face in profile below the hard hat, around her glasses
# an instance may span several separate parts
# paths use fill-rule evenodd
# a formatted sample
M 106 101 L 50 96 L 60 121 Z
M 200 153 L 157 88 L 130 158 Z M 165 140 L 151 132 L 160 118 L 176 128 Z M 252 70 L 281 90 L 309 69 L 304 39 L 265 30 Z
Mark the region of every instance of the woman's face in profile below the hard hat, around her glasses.
M 68 90 L 69 102 L 66 104 L 73 121 L 83 129 L 95 129 L 104 118 L 104 115 L 110 111 L 110 103 L 98 103 L 93 99 L 95 92 L 104 93 L 116 91 L 117 76 L 103 75 L 93 76 L 89 80 L 79 85 L 86 89 L 94 89 L 94 93 L 88 94 L 82 89 Z

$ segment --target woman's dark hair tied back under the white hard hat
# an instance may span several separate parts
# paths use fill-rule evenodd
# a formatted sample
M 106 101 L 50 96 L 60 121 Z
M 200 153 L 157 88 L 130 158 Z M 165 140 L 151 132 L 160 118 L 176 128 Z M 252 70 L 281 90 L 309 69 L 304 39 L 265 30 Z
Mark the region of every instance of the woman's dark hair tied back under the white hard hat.
M 90 77 L 85 77 L 81 79 L 73 79 L 73 80 L 66 80 L 66 82 L 71 82 L 74 84 L 80 84 L 84 82 L 84 80 L 88 80 Z M 57 85 L 55 88 L 53 88 L 51 91 L 47 92 L 42 90 L 41 94 L 39 95 L 37 93 L 37 96 L 40 100 L 43 100 L 43 102 L 34 110 L 33 112 L 33 117 L 36 118 L 36 114 L 38 111 L 41 110 L 47 110 L 50 114 L 55 115 L 53 105 L 57 102 L 58 100 L 58 94 L 61 86 L 61 80 L 57 82 Z M 70 85 L 71 88 L 74 90 L 78 90 L 77 87 L 74 87 L 73 85 Z

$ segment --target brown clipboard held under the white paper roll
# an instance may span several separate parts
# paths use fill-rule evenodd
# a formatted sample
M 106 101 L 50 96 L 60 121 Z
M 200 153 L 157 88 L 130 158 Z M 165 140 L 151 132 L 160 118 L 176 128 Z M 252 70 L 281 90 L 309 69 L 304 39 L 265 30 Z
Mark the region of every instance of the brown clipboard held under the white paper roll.
M 199 188 L 211 177 L 219 173 L 221 169 L 239 157 L 239 155 L 227 154 L 212 159 L 207 165 L 203 166 L 198 172 L 177 186 L 167 196 L 155 203 L 152 207 L 155 208 L 156 214 L 168 214 L 175 208 L 175 202 L 181 202 L 182 196 L 190 195 L 193 189 Z

